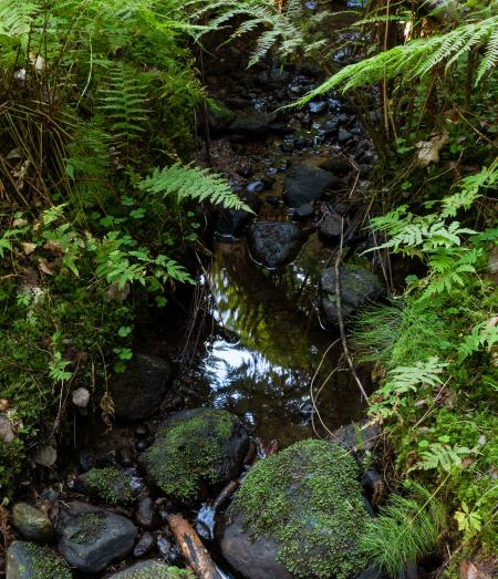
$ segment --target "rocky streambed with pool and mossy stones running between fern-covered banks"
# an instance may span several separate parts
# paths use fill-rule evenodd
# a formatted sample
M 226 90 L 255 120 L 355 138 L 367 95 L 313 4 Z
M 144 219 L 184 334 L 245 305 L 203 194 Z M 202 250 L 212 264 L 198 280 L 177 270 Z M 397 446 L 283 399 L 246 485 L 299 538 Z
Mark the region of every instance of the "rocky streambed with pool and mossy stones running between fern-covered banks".
M 227 111 L 207 114 L 199 157 L 253 213 L 198 208 L 212 259 L 191 313 L 138 332 L 110 384 L 112 430 L 82 417 L 73 456 L 21 487 L 8 579 L 378 576 L 359 541 L 380 433 L 338 341 L 339 318 L 386 285 L 360 255 L 375 154 L 335 94 L 281 110 L 318 84 L 314 66 L 245 60 L 232 45 L 207 65 Z

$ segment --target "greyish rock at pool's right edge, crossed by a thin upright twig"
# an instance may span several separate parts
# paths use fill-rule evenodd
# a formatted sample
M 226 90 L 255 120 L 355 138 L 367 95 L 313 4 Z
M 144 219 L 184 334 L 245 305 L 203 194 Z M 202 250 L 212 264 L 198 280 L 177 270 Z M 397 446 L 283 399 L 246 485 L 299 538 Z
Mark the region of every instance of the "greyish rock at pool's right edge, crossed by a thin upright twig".
M 320 307 L 324 313 L 324 322 L 329 325 L 339 323 L 336 304 L 336 282 L 334 268 L 322 271 L 320 278 Z M 375 273 L 361 266 L 347 265 L 341 267 L 342 316 L 344 319 L 354 313 L 360 306 L 378 299 L 383 287 Z

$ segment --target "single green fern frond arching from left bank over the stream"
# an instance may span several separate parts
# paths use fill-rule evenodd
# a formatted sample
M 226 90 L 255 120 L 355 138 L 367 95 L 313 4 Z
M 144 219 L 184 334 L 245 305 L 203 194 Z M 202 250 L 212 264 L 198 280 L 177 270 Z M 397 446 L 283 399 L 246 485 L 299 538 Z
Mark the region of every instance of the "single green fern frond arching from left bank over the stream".
M 149 177 L 139 183 L 138 187 L 163 196 L 175 194 L 179 200 L 194 199 L 199 203 L 209 200 L 227 209 L 252 211 L 230 189 L 224 177 L 194 165 L 176 163 L 163 169 L 156 168 Z

